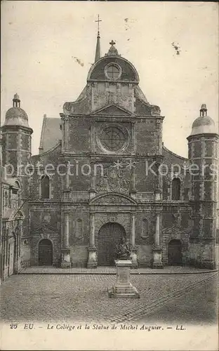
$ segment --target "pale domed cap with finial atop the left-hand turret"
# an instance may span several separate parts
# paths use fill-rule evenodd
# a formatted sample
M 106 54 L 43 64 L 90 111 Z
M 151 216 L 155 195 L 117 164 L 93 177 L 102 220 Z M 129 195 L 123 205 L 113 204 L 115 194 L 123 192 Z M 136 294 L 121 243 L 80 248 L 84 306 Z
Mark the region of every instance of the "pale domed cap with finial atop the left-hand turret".
M 17 93 L 13 98 L 13 107 L 6 112 L 4 126 L 24 126 L 29 128 L 27 113 L 20 108 L 20 98 Z

